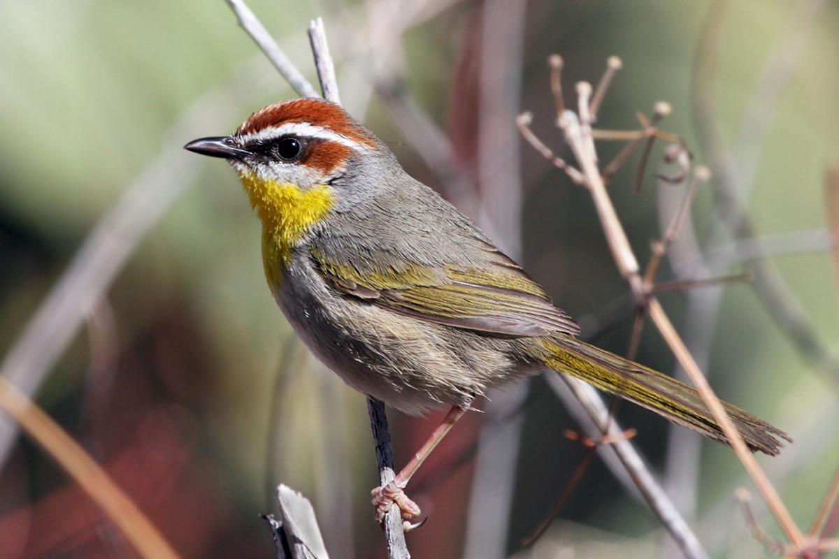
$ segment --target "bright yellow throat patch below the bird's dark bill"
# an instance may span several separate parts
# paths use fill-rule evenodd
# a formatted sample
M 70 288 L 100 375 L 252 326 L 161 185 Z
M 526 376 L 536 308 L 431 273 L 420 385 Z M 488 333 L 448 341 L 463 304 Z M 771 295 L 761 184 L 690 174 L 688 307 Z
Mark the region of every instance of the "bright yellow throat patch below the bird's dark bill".
M 274 292 L 283 283 L 283 271 L 294 246 L 312 225 L 329 214 L 335 197 L 326 184 L 301 189 L 296 184 L 260 179 L 249 171 L 240 176 L 263 224 L 263 267 L 268 287 Z

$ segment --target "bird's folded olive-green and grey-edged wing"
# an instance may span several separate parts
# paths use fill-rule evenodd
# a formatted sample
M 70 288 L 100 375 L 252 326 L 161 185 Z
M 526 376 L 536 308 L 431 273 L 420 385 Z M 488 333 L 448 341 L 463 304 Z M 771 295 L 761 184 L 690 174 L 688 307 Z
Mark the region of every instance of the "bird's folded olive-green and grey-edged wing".
M 315 267 L 336 290 L 397 313 L 485 334 L 580 332 L 508 256 L 488 245 L 483 256 L 480 267 L 382 259 L 388 267 L 364 269 L 312 251 Z

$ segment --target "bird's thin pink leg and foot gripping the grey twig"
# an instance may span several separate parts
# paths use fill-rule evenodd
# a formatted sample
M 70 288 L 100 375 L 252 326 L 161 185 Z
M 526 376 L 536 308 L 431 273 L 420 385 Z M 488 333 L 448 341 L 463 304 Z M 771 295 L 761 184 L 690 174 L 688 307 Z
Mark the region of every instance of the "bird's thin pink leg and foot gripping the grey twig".
M 463 417 L 466 409 L 468 409 L 468 406 L 452 406 L 446 417 L 440 422 L 440 426 L 431 433 L 425 444 L 414 454 L 414 458 L 411 458 L 410 462 L 402 468 L 402 471 L 397 474 L 393 481 L 383 487 L 373 489 L 373 506 L 376 507 L 376 521 L 379 524 L 382 524 L 385 515 L 388 514 L 394 503 L 402 510 L 402 518 L 405 520 L 411 520 L 420 515 L 420 507 L 408 498 L 403 489 L 416 474 L 416 471 L 420 469 L 422 463 L 425 462 L 425 458 L 428 458 L 431 451 L 443 440 L 443 437 L 446 437 L 457 420 Z

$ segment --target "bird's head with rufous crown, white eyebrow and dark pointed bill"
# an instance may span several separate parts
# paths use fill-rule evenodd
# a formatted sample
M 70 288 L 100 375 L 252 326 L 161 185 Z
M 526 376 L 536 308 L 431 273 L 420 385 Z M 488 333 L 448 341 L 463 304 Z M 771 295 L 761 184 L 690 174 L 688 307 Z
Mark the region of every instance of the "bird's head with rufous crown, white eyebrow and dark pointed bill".
M 395 163 L 373 132 L 320 99 L 279 101 L 254 112 L 232 135 L 201 138 L 185 148 L 227 159 L 263 223 L 294 215 L 314 220 L 349 208 L 374 194 L 380 181 L 370 180 L 371 174 L 392 171 Z

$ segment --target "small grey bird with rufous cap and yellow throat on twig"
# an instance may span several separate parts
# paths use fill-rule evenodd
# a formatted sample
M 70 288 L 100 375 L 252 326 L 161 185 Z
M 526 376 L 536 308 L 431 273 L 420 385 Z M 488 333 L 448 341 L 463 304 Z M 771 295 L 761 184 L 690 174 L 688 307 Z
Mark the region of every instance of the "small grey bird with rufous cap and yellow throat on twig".
M 239 173 L 262 222 L 268 287 L 326 366 L 411 415 L 451 406 L 396 479 L 373 489 L 380 522 L 394 503 L 405 520 L 420 514 L 403 489 L 475 398 L 545 369 L 727 441 L 694 388 L 576 339 L 539 284 L 340 106 L 280 101 L 185 148 Z M 790 441 L 724 406 L 753 451 Z

